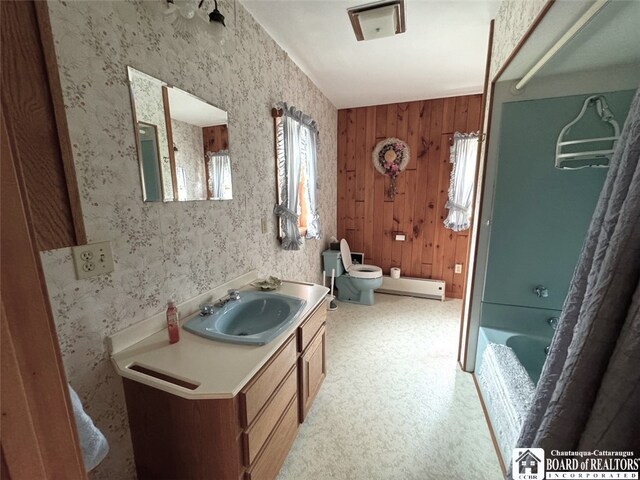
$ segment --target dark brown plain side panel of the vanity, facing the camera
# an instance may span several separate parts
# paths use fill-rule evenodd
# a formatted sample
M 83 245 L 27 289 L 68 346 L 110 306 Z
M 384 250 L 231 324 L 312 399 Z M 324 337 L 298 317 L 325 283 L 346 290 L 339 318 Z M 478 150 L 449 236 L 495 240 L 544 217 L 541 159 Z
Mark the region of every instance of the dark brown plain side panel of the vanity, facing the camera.
M 237 480 L 244 473 L 237 397 L 189 400 L 123 381 L 138 479 Z

